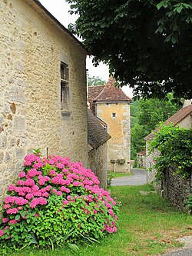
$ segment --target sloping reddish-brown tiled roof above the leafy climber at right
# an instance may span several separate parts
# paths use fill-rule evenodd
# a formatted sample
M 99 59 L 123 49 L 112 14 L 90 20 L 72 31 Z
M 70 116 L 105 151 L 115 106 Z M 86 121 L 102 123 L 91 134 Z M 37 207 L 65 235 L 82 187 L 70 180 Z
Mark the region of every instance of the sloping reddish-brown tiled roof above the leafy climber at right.
M 180 123 L 180 121 L 184 120 L 184 118 L 187 117 L 187 115 L 192 115 L 192 105 L 188 105 L 186 107 L 180 108 L 177 113 L 172 115 L 170 118 L 167 119 L 167 121 L 164 121 L 165 125 L 173 124 L 177 125 Z M 145 141 L 151 141 L 152 138 L 155 137 L 155 133 L 160 129 L 161 127 L 156 128 L 153 132 L 151 132 L 149 135 L 147 135 L 144 140 Z

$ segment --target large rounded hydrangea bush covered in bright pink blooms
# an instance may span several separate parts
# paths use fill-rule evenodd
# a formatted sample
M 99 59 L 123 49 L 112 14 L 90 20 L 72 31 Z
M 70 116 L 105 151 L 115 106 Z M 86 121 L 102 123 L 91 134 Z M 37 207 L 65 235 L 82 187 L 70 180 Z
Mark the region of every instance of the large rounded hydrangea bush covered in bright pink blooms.
M 117 232 L 119 204 L 80 162 L 27 155 L 18 178 L 3 204 L 0 243 L 45 247 L 62 244 L 66 236 L 77 242 Z

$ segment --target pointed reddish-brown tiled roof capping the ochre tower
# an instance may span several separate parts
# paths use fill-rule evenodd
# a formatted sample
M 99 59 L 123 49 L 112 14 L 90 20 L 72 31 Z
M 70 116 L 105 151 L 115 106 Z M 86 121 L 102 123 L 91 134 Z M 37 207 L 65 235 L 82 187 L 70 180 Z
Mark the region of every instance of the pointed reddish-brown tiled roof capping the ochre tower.
M 121 88 L 114 86 L 114 84 L 115 79 L 113 77 L 109 78 L 103 90 L 94 98 L 94 101 L 131 101 L 131 98 Z

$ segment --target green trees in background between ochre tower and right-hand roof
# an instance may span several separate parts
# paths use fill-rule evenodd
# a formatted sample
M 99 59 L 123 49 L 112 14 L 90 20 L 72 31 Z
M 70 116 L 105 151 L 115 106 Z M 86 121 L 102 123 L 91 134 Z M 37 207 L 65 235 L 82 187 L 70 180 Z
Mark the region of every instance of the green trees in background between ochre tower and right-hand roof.
M 144 149 L 144 137 L 161 121 L 166 121 L 179 110 L 180 106 L 172 100 L 173 95 L 169 94 L 164 100 L 140 99 L 135 102 L 134 109 L 131 107 L 131 116 L 135 115 L 136 119 L 131 125 L 131 159 L 136 158 L 137 153 Z

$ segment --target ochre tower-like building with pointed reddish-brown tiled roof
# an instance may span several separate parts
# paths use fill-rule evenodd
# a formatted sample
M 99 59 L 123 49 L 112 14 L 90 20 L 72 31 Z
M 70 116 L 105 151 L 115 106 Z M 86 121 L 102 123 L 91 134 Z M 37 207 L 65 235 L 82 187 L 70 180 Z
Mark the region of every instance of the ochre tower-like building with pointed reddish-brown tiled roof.
M 104 122 L 111 139 L 108 141 L 108 170 L 130 171 L 131 98 L 121 88 L 114 86 L 114 78 L 109 78 L 104 86 L 88 88 L 88 101 L 93 114 Z

